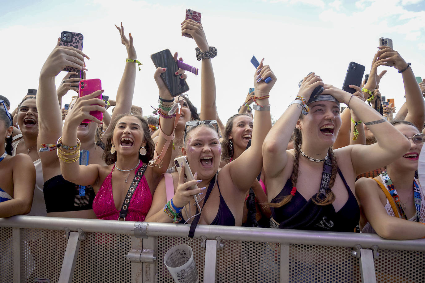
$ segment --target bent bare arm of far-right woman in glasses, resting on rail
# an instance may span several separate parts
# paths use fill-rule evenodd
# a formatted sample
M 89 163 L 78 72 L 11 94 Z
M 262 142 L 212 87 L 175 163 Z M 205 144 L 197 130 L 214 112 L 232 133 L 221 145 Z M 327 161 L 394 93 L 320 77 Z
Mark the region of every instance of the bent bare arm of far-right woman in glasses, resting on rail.
M 380 200 L 381 189 L 373 179 L 360 178 L 356 195 L 368 222 L 382 238 L 411 240 L 425 236 L 425 225 L 389 216 Z

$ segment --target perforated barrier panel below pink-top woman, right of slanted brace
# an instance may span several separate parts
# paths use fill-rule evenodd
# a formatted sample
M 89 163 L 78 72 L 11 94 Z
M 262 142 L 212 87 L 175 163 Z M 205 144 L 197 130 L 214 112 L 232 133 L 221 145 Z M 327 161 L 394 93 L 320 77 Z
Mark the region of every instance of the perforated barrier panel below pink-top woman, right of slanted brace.
M 81 242 L 73 282 L 131 282 L 131 262 L 127 253 L 131 236 L 87 233 Z

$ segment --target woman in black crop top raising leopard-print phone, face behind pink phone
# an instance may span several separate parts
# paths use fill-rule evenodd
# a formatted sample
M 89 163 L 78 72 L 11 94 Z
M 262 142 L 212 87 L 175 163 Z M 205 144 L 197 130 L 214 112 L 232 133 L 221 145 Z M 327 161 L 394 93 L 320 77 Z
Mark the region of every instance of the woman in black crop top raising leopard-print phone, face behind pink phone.
M 117 27 L 118 28 L 118 27 Z M 127 39 L 124 34 L 124 27 L 118 28 L 121 34 L 122 44 L 127 48 L 127 58 L 136 60 L 136 50 L 133 47 L 133 37 Z M 62 136 L 62 114 L 59 101 L 66 92 L 57 93 L 55 88 L 55 77 L 64 68 L 79 62 L 79 70 L 85 70 L 81 54 L 74 56 L 72 48 L 56 46 L 48 56 L 40 72 L 40 84 L 37 95 L 37 105 L 39 105 L 40 134 L 38 145 L 56 144 Z M 75 63 L 74 63 L 75 64 Z M 71 75 L 72 73 L 68 73 Z M 75 73 L 77 74 L 77 73 Z M 79 78 L 69 78 L 62 81 L 61 85 L 69 85 L 77 88 Z M 128 97 L 132 97 L 134 84 L 136 81 L 136 66 L 133 62 L 126 62 L 121 83 L 117 91 L 117 109 L 115 115 L 125 113 L 129 109 Z M 61 87 L 63 88 L 63 87 Z M 85 99 L 73 100 L 70 104 L 69 112 L 66 116 L 68 123 L 77 123 L 79 117 L 83 115 L 82 102 Z M 130 99 L 131 105 L 131 99 Z M 95 135 L 98 128 L 97 123 L 81 123 L 77 126 L 77 135 L 81 141 L 80 149 L 84 152 L 88 164 L 96 163 L 106 165 L 102 159 L 105 146 L 102 143 L 96 143 Z M 44 176 L 44 199 L 46 203 L 47 216 L 75 217 L 75 218 L 96 218 L 93 212 L 92 204 L 94 200 L 94 190 L 89 186 L 80 186 L 73 182 L 66 181 L 60 171 L 59 158 L 56 151 L 41 152 L 40 158 L 43 166 Z M 60 198 L 60 202 L 58 201 Z

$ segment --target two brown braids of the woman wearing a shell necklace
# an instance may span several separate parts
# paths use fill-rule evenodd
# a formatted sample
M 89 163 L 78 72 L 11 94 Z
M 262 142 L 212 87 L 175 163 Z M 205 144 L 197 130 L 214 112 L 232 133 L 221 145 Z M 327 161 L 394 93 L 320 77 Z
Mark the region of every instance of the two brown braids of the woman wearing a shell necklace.
M 294 142 L 294 168 L 292 169 L 291 174 L 291 181 L 292 181 L 292 187 L 297 187 L 297 179 L 298 179 L 298 166 L 299 166 L 299 159 L 300 159 L 300 151 L 298 150 L 298 146 L 302 144 L 302 136 L 301 131 L 298 128 L 294 129 L 293 134 L 293 142 Z M 326 189 L 326 197 L 325 198 L 319 198 L 318 196 L 320 194 L 316 195 L 316 198 L 312 197 L 312 201 L 317 205 L 330 205 L 335 200 L 335 195 L 331 191 L 331 188 L 334 186 L 335 179 L 337 177 L 337 160 L 334 156 L 334 151 L 330 147 L 328 149 L 329 157 L 332 160 L 332 172 L 331 172 L 331 179 L 329 180 L 329 186 Z M 270 203 L 270 207 L 281 207 L 283 205 L 286 205 L 288 202 L 290 202 L 292 199 L 292 195 L 289 194 L 288 196 L 284 196 L 283 199 L 280 202 L 277 203 Z

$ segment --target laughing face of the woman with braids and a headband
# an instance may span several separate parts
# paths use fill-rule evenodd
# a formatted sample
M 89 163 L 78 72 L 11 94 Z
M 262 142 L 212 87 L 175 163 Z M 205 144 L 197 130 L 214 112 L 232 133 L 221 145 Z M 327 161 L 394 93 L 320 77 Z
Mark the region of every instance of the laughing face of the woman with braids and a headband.
M 341 127 L 340 107 L 332 101 L 309 104 L 309 114 L 298 120 L 303 140 L 323 141 L 323 147 L 334 144 Z

